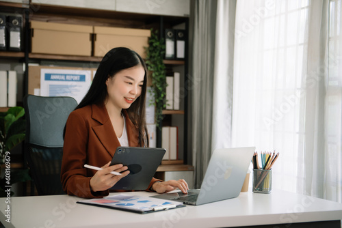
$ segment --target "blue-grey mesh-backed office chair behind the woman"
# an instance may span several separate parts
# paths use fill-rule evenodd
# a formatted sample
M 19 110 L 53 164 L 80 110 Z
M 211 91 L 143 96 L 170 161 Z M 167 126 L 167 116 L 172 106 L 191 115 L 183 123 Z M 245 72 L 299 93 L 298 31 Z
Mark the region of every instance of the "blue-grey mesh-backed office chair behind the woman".
M 27 123 L 24 157 L 38 195 L 65 194 L 60 180 L 63 132 L 77 102 L 71 97 L 26 95 L 23 103 Z

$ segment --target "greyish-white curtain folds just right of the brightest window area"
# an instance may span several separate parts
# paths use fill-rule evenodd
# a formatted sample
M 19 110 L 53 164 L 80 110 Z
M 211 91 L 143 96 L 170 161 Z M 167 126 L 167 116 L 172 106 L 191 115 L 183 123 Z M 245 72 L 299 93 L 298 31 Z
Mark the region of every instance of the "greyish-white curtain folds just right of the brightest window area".
M 298 191 L 326 198 L 328 171 L 328 1 L 311 1 L 306 74 L 302 76 L 298 140 Z

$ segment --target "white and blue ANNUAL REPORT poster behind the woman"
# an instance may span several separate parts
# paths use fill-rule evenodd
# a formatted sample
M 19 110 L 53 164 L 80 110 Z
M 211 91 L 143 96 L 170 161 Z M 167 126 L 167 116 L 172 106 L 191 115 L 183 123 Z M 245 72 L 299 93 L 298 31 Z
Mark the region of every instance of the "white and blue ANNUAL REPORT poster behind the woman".
M 81 102 L 86 95 L 92 72 L 90 70 L 40 70 L 40 96 L 70 96 Z

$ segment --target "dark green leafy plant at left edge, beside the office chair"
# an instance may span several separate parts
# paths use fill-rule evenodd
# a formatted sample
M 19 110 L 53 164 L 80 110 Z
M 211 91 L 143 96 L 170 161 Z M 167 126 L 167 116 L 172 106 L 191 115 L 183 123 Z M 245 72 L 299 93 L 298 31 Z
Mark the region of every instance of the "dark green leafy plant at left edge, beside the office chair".
M 0 113 L 0 165 L 5 167 L 5 175 L 0 180 L 0 197 L 6 197 L 4 186 L 31 180 L 27 169 L 11 169 L 10 151 L 25 139 L 26 122 L 23 107 L 16 106 Z M 6 178 L 7 177 L 7 178 Z M 13 193 L 11 193 L 13 194 Z

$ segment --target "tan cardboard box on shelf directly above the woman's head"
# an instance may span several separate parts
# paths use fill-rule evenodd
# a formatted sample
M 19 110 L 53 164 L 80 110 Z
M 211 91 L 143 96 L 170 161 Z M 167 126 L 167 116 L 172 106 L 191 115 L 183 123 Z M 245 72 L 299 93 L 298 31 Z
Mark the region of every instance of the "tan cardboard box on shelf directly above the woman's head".
M 94 56 L 103 57 L 111 48 L 124 46 L 146 57 L 144 46 L 148 46 L 149 29 L 126 29 L 94 26 Z

